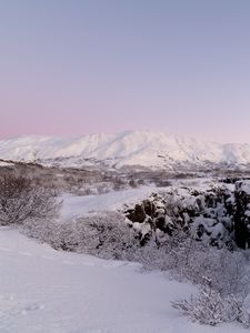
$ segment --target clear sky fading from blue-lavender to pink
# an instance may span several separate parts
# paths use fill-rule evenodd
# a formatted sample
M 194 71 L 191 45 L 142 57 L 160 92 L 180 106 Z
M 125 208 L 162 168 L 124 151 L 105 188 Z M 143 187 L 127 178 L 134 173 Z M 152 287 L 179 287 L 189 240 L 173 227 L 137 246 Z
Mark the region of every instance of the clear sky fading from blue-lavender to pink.
M 0 0 L 0 138 L 249 128 L 249 0 Z

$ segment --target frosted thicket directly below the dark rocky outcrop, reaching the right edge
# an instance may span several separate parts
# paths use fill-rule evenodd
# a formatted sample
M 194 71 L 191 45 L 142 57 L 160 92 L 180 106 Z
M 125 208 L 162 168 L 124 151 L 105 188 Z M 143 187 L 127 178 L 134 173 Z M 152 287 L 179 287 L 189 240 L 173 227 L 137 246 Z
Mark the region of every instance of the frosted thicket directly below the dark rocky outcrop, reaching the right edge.
M 197 242 L 184 232 L 167 235 L 160 245 L 151 238 L 134 251 L 133 261 L 148 270 L 168 271 L 180 281 L 202 284 L 203 275 L 211 279 L 211 287 L 222 296 L 250 292 L 249 251 L 230 252 Z M 129 259 L 130 260 L 130 259 Z

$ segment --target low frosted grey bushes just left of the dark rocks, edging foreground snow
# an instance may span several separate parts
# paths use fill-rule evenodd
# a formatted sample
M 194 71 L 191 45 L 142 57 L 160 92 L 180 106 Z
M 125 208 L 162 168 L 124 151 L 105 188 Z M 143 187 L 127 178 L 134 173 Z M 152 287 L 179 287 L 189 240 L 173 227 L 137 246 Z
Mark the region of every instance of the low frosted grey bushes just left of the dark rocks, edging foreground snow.
M 79 218 L 69 223 L 26 222 L 22 231 L 57 250 L 83 252 L 106 259 L 127 259 L 139 245 L 137 232 L 116 212 Z

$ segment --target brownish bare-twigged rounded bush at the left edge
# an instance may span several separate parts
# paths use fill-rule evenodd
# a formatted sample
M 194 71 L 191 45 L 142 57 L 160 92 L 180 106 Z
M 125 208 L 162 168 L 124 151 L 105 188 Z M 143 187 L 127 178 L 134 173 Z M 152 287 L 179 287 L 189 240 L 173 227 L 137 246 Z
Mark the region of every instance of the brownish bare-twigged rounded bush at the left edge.
M 48 219 L 58 213 L 54 191 L 24 176 L 0 178 L 0 224 L 20 224 L 28 219 Z

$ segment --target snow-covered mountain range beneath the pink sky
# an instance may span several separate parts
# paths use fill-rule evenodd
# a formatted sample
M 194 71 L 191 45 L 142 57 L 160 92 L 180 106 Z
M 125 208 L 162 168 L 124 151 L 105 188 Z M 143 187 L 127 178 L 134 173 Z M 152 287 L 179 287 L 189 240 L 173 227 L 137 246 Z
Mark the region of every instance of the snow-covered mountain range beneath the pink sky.
M 0 159 L 61 165 L 101 163 L 113 168 L 246 167 L 250 144 L 200 142 L 153 131 L 90 134 L 80 138 L 20 137 L 0 141 Z

